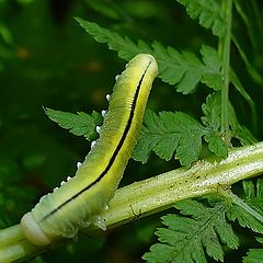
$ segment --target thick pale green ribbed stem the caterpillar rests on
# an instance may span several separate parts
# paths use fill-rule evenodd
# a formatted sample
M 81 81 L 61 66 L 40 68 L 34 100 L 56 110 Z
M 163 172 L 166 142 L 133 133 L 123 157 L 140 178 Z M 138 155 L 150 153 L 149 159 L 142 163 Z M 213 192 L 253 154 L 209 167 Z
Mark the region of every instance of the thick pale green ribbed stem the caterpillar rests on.
M 164 210 L 178 201 L 217 193 L 221 187 L 228 188 L 240 180 L 261 173 L 263 142 L 231 150 L 228 158 L 219 162 L 199 161 L 191 169 L 180 168 L 122 187 L 110 202 L 110 209 L 102 213 L 102 217 L 107 228 L 114 228 Z M 84 229 L 85 232 L 94 230 L 98 229 Z M 24 259 L 47 249 L 34 247 L 26 241 L 20 225 L 0 231 L 1 263 Z

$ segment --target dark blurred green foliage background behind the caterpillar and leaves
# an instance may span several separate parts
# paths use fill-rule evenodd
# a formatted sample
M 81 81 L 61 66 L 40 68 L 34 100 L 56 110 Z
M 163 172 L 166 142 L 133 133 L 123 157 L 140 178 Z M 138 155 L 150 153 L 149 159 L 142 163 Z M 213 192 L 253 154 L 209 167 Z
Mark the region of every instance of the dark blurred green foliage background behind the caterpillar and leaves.
M 238 118 L 262 140 L 263 34 L 259 32 L 263 32 L 263 2 L 236 2 L 240 8 L 233 13 L 239 44 L 236 48 L 244 50 L 247 60 L 233 48 L 232 66 L 255 102 L 256 123 L 237 91 L 231 90 L 230 98 Z M 114 76 L 124 67 L 116 54 L 83 32 L 75 16 L 98 22 L 134 39 L 156 39 L 196 54 L 202 44 L 215 47 L 217 44 L 216 37 L 192 21 L 176 1 L 0 0 L 1 228 L 19 222 L 39 196 L 72 175 L 77 161 L 82 161 L 89 150 L 84 138 L 75 137 L 50 122 L 43 106 L 67 112 L 101 112 L 107 105 L 105 93 L 111 92 Z M 244 28 L 249 34 L 242 33 Z M 248 73 L 248 65 L 261 75 Z M 156 111 L 183 110 L 195 117 L 202 115 L 201 105 L 207 94 L 207 89 L 198 89 L 195 94 L 184 96 L 158 80 L 148 106 Z M 174 160 L 164 162 L 156 157 L 150 161 L 147 168 L 132 161 L 122 184 L 179 165 Z M 152 217 L 103 237 L 80 238 L 77 245 L 69 244 L 35 262 L 57 262 L 56 259 L 140 262 L 144 247 L 148 248 L 153 238 L 149 229 L 156 225 L 157 217 Z M 105 253 L 100 252 L 102 245 L 106 245 Z

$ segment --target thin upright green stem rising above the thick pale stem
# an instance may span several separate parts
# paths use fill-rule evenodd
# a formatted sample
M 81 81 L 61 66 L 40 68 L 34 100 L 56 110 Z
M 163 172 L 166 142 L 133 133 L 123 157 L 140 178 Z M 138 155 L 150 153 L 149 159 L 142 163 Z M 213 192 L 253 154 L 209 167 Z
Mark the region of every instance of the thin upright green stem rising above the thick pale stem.
M 222 1 L 222 13 L 226 19 L 226 34 L 222 37 L 221 48 L 222 57 L 222 79 L 224 87 L 221 90 L 221 133 L 225 142 L 230 145 L 229 117 L 228 117 L 228 95 L 229 95 L 229 72 L 230 72 L 230 44 L 231 44 L 231 25 L 232 25 L 232 0 Z M 219 39 L 220 41 L 220 39 Z

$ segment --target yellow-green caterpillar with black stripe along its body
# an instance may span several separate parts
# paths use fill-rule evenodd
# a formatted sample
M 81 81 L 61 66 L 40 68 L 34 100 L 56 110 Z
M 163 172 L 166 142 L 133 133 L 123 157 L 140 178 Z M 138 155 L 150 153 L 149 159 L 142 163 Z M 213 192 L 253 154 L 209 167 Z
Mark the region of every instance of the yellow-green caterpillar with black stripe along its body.
M 90 224 L 105 230 L 100 217 L 107 209 L 133 153 L 152 81 L 158 75 L 156 59 L 149 54 L 135 56 L 116 78 L 108 111 L 103 111 L 100 137 L 93 141 L 73 178 L 43 196 L 21 219 L 21 228 L 32 243 L 48 245 L 72 238 Z

